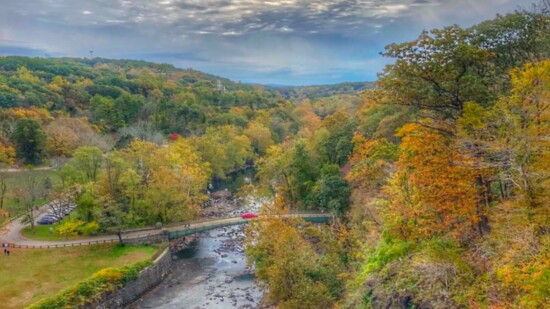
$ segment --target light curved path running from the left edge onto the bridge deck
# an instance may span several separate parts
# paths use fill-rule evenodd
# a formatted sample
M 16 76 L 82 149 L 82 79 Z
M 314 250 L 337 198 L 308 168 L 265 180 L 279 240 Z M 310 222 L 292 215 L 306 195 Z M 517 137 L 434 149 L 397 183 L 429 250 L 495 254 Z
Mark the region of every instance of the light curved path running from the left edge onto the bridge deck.
M 283 217 L 299 217 L 303 218 L 306 221 L 312 222 L 327 222 L 332 218 L 332 215 L 327 213 L 308 213 L 308 214 L 287 214 Z M 122 233 L 123 241 L 138 240 L 144 238 L 154 238 L 161 237 L 162 235 L 168 234 L 169 238 L 175 238 L 180 236 L 185 236 L 193 233 L 203 232 L 209 229 L 246 224 L 250 219 L 242 219 L 241 217 L 231 217 L 231 218 L 218 218 L 204 221 L 194 221 L 194 222 L 182 222 L 178 224 L 167 225 L 163 229 L 157 229 L 154 227 L 143 228 L 143 229 L 134 229 L 126 230 Z M 19 247 L 19 248 L 56 248 L 56 247 L 67 247 L 67 246 L 80 246 L 80 245 L 91 245 L 97 243 L 110 243 L 118 242 L 118 236 L 116 234 L 110 235 L 101 235 L 96 237 L 89 237 L 85 239 L 78 240 L 67 240 L 67 241 L 41 241 L 27 239 L 21 235 L 21 230 L 26 225 L 22 224 L 20 220 L 15 220 L 9 224 L 6 228 L 7 230 L 0 231 L 0 242 L 8 243 L 9 246 Z

